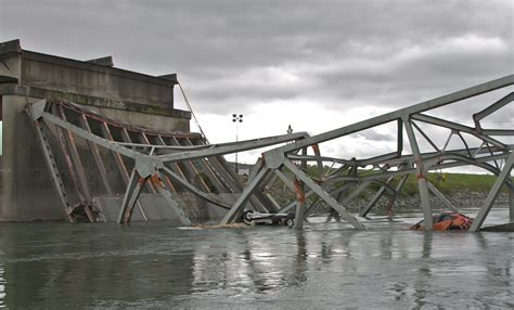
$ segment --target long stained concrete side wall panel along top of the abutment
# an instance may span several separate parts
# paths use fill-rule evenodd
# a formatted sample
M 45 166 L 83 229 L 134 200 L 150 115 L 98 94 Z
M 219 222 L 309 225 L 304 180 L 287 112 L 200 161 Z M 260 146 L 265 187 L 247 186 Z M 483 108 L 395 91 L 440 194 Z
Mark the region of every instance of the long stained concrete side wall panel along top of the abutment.
M 174 81 L 29 51 L 21 56 L 24 86 L 174 108 Z

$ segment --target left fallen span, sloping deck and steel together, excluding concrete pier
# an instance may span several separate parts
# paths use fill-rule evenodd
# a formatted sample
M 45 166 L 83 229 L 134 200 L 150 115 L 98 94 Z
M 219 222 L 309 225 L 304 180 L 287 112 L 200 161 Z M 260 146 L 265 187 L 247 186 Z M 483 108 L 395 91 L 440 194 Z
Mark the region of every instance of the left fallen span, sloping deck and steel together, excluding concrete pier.
M 305 138 L 295 133 L 207 145 L 197 133 L 134 127 L 60 100 L 28 104 L 26 113 L 72 222 L 127 224 L 137 215 L 139 220 L 177 219 L 189 225 L 195 218 L 220 217 L 243 189 L 221 155 Z M 258 193 L 252 207 L 277 211 Z

